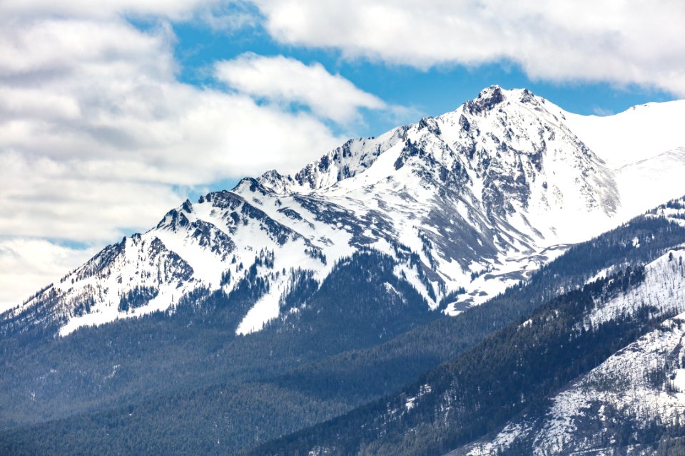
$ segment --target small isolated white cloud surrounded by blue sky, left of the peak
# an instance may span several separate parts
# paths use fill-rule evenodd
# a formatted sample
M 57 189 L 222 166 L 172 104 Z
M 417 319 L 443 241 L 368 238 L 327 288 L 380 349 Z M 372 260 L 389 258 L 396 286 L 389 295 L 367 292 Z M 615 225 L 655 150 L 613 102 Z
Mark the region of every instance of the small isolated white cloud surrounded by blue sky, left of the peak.
M 295 58 L 243 53 L 215 68 L 217 78 L 240 93 L 281 105 L 306 105 L 315 115 L 337 123 L 357 119 L 360 108 L 387 108 L 380 98 L 316 62 L 305 65 Z

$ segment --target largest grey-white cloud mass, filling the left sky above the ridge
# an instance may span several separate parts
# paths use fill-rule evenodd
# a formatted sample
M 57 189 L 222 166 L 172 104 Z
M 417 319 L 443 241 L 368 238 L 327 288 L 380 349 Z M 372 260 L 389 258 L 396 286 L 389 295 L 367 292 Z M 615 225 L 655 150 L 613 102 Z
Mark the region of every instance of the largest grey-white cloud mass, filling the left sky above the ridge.
M 178 204 L 173 186 L 293 171 L 342 139 L 313 115 L 179 83 L 163 24 L 4 25 L 0 236 L 111 240 Z

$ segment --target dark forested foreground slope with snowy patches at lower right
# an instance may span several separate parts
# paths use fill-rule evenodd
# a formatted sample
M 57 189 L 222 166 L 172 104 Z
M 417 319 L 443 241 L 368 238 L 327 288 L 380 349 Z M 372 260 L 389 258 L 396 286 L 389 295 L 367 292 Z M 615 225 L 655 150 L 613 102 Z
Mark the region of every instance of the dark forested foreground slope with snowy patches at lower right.
M 684 228 L 678 199 L 579 246 L 591 262 L 573 247 L 549 266 L 611 265 L 399 392 L 249 453 L 682 454 Z

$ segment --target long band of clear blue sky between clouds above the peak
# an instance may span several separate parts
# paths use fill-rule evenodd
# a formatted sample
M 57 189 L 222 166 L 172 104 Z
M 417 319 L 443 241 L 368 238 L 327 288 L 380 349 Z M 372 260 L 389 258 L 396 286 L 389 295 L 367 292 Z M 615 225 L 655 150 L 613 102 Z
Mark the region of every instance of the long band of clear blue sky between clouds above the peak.
M 342 58 L 337 49 L 284 46 L 261 27 L 227 34 L 189 22 L 175 24 L 173 30 L 178 38 L 174 52 L 181 65 L 180 81 L 195 86 L 214 86 L 216 81 L 210 72 L 213 63 L 230 60 L 245 52 L 289 56 L 306 64 L 321 63 L 330 73 L 340 74 L 358 88 L 388 103 L 413 108 L 415 112 L 402 119 L 406 122 L 455 110 L 466 100 L 475 98 L 482 88 L 493 84 L 504 88 L 529 88 L 565 110 L 584 115 L 611 115 L 634 105 L 679 98 L 666 90 L 638 84 L 532 79 L 517 63 L 510 61 L 475 66 L 446 64 L 432 68 L 387 64 L 368 58 L 350 61 Z M 397 126 L 398 119 L 367 111 L 364 120 L 353 129 L 340 129 L 338 125 L 332 127 L 342 135 L 370 136 Z

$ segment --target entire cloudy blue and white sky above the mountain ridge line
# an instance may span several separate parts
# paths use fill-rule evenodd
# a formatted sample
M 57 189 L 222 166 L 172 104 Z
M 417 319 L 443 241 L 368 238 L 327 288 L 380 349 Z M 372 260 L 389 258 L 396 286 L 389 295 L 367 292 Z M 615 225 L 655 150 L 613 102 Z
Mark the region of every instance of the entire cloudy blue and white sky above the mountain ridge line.
M 0 310 L 186 197 L 529 88 L 685 98 L 682 0 L 3 0 Z

